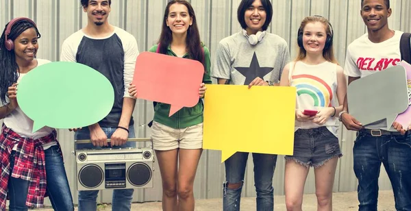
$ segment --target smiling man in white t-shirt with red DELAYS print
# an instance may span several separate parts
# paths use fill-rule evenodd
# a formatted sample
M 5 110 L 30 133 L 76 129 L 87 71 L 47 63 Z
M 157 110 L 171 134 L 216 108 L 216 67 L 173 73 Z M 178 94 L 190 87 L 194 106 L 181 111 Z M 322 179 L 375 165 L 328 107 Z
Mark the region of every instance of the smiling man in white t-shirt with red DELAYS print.
M 399 42 L 403 32 L 388 27 L 392 12 L 390 1 L 362 0 L 361 7 L 360 14 L 368 33 L 347 48 L 345 75 L 348 75 L 348 83 L 401 62 Z M 404 136 L 406 128 L 395 122 L 388 131 L 384 130 L 385 119 L 362 125 L 347 109 L 346 97 L 339 116 L 347 129 L 358 131 L 353 160 L 358 179 L 359 210 L 377 210 L 381 163 L 393 186 L 395 208 L 411 210 L 411 136 Z

